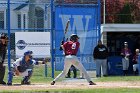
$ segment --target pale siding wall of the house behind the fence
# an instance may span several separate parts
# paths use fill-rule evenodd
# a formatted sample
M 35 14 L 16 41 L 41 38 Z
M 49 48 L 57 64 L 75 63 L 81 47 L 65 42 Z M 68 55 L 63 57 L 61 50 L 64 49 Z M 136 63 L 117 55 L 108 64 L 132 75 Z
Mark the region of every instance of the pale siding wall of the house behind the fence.
M 15 2 L 15 1 L 19 1 L 19 0 L 11 0 L 12 2 Z M 20 0 L 22 1 L 22 0 Z M 19 2 L 20 2 L 19 1 Z M 27 1 L 27 0 L 23 0 L 23 1 Z M 48 3 L 50 0 L 36 0 L 36 7 L 39 7 L 40 9 L 43 10 L 44 12 L 44 28 L 50 28 L 50 7 L 47 7 L 48 6 Z M 6 3 L 7 1 L 6 0 L 3 0 L 3 1 L 0 1 L 0 11 L 4 11 L 4 29 L 7 28 L 7 14 L 6 14 L 6 8 L 7 8 L 7 5 L 6 4 L 2 4 L 2 3 Z M 46 4 L 45 4 L 46 3 Z M 11 12 L 11 29 L 18 29 L 18 18 L 17 18 L 17 15 L 18 14 L 21 14 L 21 29 L 24 29 L 24 27 L 27 29 L 28 28 L 28 11 L 29 11 L 29 6 L 25 6 L 21 9 L 17 9 L 17 10 L 14 10 L 15 8 L 17 8 L 18 6 L 22 5 L 23 3 L 20 3 L 20 4 L 12 4 L 10 6 L 10 12 Z M 23 15 L 26 15 L 26 26 L 23 26 Z M 33 17 L 35 18 L 35 17 Z M 4 30 L 0 30 L 1 32 L 4 32 Z M 13 30 L 11 30 L 12 32 L 15 32 Z

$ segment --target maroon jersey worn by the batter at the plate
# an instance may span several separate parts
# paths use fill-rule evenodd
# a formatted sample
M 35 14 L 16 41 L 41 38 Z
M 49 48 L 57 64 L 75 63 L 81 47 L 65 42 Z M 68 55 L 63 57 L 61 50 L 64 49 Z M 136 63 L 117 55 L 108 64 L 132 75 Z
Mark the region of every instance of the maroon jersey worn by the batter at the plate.
M 76 55 L 79 49 L 79 42 L 68 41 L 63 44 L 65 55 Z

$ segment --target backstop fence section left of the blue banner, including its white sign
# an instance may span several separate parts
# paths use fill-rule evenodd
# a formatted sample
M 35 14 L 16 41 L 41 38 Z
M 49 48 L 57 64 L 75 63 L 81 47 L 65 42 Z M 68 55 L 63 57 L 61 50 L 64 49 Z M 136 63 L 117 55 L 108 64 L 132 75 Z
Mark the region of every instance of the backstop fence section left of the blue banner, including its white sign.
M 8 35 L 5 64 L 27 50 L 33 57 L 50 62 L 50 0 L 0 0 L 0 33 Z

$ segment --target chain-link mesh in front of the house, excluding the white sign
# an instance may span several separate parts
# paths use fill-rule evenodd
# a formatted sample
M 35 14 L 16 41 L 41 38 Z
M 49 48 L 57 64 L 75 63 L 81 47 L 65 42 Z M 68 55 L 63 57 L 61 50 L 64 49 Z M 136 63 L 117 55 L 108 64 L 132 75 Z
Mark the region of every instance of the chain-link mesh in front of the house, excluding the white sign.
M 7 6 L 7 0 L 0 1 L 0 33 L 8 34 L 8 16 L 10 16 L 9 40 L 13 61 L 16 59 L 16 32 L 50 32 L 50 0 L 10 0 L 10 15 Z M 50 62 L 50 58 L 44 60 Z

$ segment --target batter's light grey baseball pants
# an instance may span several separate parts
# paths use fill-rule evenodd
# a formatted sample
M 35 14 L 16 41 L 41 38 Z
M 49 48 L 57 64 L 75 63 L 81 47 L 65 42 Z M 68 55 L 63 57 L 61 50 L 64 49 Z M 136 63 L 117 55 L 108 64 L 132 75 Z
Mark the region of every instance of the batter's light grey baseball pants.
M 78 58 L 74 55 L 68 55 L 65 56 L 64 60 L 64 69 L 63 71 L 54 79 L 54 81 L 57 81 L 60 77 L 65 77 L 65 75 L 68 73 L 71 65 L 75 66 L 77 69 L 83 72 L 85 78 L 87 81 L 91 81 L 89 75 L 87 74 L 85 68 L 83 67 L 82 63 L 78 60 Z

